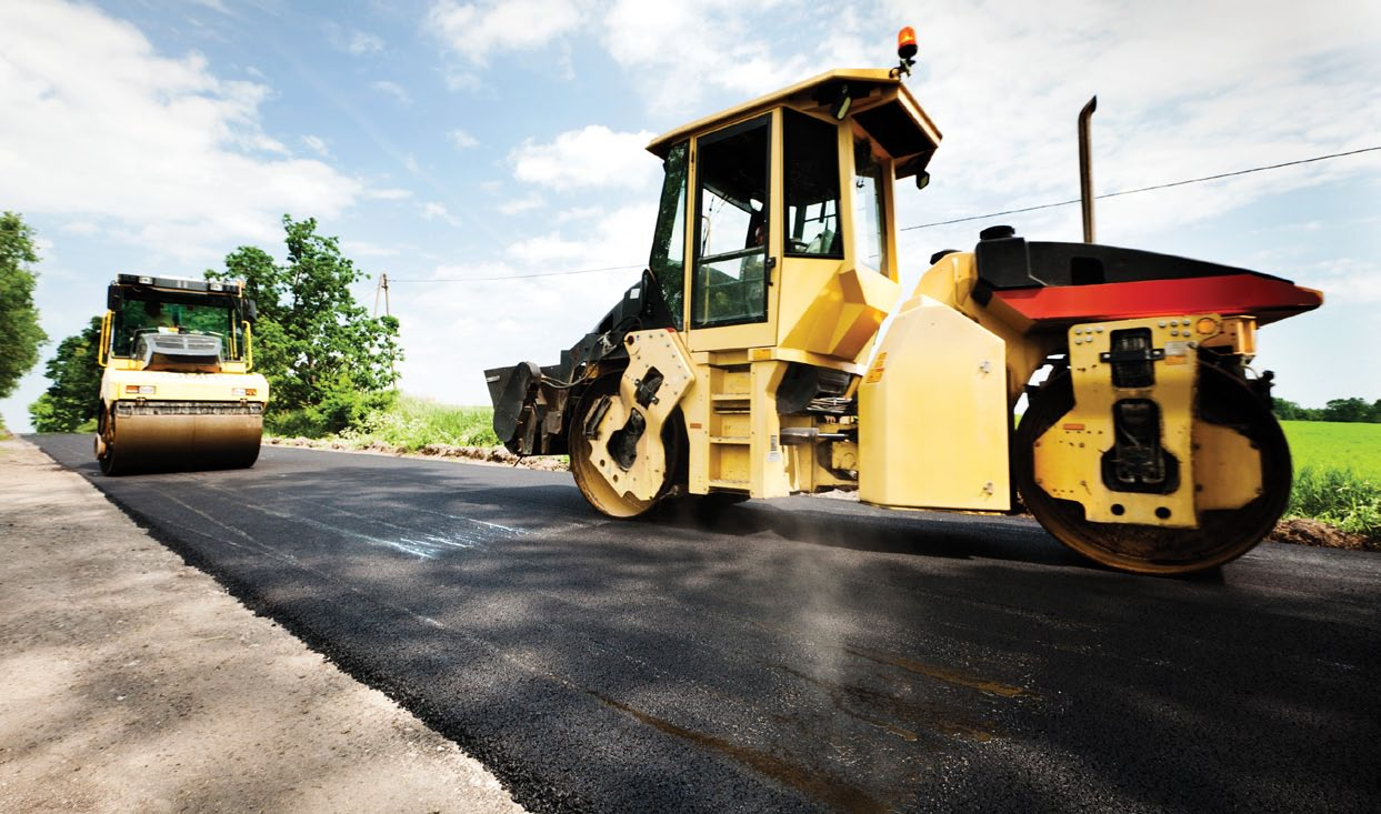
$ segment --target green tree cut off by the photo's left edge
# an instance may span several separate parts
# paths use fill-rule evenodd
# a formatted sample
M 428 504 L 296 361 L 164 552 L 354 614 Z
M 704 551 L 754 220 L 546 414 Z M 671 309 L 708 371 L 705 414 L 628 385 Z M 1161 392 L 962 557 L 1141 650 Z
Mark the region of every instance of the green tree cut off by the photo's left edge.
M 0 214 L 0 399 L 14 393 L 19 377 L 39 361 L 39 345 L 48 339 L 33 306 L 36 280 L 29 266 L 36 262 L 33 229 L 14 212 Z

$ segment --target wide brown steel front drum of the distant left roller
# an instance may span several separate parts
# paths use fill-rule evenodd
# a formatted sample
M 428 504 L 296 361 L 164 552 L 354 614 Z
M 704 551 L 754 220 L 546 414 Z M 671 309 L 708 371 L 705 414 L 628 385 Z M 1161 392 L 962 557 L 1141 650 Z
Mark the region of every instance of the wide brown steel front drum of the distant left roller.
M 101 417 L 97 461 L 105 475 L 242 469 L 258 459 L 257 404 L 116 404 Z

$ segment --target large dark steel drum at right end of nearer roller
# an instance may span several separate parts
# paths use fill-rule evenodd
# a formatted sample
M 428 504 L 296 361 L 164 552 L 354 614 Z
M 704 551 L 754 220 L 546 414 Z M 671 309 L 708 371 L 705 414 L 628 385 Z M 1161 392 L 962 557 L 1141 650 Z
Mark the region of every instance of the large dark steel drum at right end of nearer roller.
M 1199 368 L 1195 425 L 1230 428 L 1261 455 L 1261 493 L 1236 509 L 1199 512 L 1197 528 L 1091 523 L 1074 501 L 1052 498 L 1034 476 L 1036 441 L 1074 407 L 1068 373 L 1032 396 L 1016 429 L 1014 469 L 1022 501 L 1056 539 L 1113 568 L 1139 574 L 1188 574 L 1221 566 L 1261 542 L 1290 501 L 1290 447 L 1269 404 L 1240 378 L 1211 364 Z M 1200 433 L 1196 432 L 1196 436 Z M 1203 433 L 1203 437 L 1217 437 Z M 1211 451 L 1200 451 L 1206 454 Z

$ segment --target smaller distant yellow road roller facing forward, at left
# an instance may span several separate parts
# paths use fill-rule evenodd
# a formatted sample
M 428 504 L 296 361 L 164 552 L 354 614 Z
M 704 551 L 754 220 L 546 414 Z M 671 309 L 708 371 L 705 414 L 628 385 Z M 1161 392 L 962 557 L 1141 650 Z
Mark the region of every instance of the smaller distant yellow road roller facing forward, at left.
M 254 366 L 243 283 L 119 275 L 98 361 L 101 472 L 253 466 L 268 381 Z

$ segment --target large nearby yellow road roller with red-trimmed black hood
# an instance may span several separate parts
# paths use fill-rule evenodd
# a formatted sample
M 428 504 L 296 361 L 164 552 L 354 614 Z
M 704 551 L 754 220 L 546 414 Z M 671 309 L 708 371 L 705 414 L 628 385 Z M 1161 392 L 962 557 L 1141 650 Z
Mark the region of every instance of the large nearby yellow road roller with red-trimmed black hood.
M 1247 370 L 1255 330 L 1319 292 L 992 228 L 903 299 L 896 182 L 925 185 L 940 132 L 899 73 L 834 70 L 653 141 L 648 270 L 557 364 L 486 371 L 499 437 L 569 454 L 615 517 L 842 488 L 898 509 L 1025 505 L 1130 571 L 1248 550 L 1290 491 L 1269 377 Z

